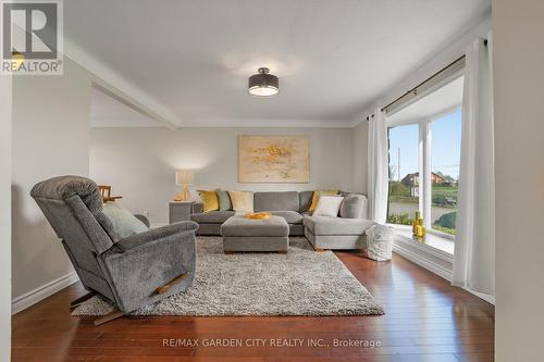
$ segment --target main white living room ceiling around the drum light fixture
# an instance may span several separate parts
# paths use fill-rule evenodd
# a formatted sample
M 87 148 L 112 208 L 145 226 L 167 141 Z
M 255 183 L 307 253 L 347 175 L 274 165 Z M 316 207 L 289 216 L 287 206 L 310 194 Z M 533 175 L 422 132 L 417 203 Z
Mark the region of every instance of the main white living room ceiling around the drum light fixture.
M 64 32 L 177 125 L 334 125 L 354 121 L 490 7 L 490 0 L 70 0 Z M 259 66 L 280 76 L 277 97 L 247 93 L 247 77 Z M 103 112 L 103 120 L 121 118 Z

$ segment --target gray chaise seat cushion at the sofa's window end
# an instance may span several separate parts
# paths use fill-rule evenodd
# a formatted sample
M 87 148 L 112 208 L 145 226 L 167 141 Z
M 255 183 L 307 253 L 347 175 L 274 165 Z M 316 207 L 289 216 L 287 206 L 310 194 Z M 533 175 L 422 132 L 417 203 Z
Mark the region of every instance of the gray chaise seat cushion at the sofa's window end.
M 374 222 L 366 219 L 309 216 L 305 217 L 304 224 L 313 235 L 363 235 Z

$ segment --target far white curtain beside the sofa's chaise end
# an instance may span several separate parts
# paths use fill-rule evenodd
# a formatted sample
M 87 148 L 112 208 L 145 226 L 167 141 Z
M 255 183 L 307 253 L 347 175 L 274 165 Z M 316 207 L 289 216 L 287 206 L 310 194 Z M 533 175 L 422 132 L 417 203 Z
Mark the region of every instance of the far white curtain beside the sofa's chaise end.
M 385 114 L 376 109 L 369 121 L 368 199 L 369 219 L 384 224 L 387 216 L 387 127 Z

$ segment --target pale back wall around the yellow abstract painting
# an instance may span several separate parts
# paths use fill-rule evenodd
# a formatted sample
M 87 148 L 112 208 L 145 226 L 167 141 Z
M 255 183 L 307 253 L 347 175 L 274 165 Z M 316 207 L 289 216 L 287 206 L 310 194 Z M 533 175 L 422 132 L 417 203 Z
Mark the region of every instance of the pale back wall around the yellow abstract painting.
M 166 223 L 178 191 L 176 168 L 194 168 L 195 189 L 308 190 L 353 187 L 353 135 L 348 128 L 92 128 L 90 177 L 112 186 L 133 212 L 147 210 Z M 309 184 L 238 184 L 237 136 L 308 135 Z

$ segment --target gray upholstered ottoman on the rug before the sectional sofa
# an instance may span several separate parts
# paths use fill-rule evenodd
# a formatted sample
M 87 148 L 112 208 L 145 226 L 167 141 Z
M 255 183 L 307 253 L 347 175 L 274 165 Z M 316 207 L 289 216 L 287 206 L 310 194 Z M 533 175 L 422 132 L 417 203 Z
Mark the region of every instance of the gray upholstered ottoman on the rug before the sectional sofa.
M 289 246 L 289 225 L 273 215 L 268 220 L 232 216 L 221 225 L 225 254 L 243 251 L 276 251 L 286 253 Z

